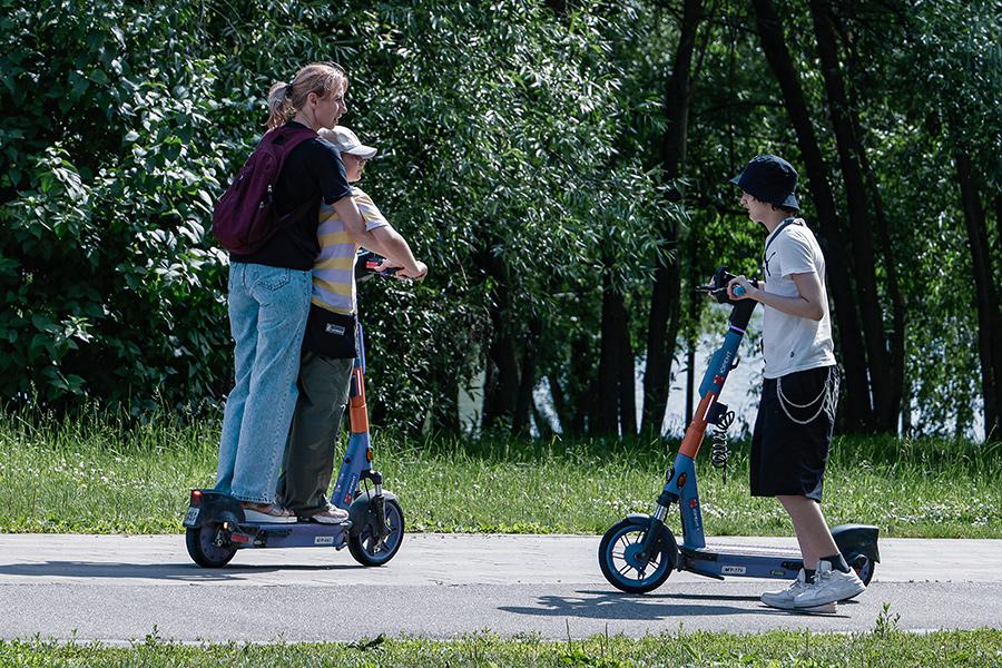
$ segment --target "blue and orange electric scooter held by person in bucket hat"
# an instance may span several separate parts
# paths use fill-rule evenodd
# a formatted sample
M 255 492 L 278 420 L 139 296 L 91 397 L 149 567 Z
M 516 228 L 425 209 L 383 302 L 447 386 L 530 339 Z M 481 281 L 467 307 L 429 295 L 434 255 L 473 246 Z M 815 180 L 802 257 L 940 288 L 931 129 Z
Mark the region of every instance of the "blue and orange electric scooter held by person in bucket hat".
M 689 423 L 675 463 L 665 474 L 665 487 L 658 497 L 654 514 L 630 514 L 606 531 L 599 543 L 599 567 L 613 587 L 629 593 L 646 593 L 660 587 L 672 570 L 689 571 L 723 580 L 725 576 L 746 578 L 777 578 L 793 580 L 804 562 L 798 550 L 707 546 L 704 534 L 699 490 L 696 482 L 696 455 L 707 425 L 716 425 L 714 464 L 727 462 L 726 430 L 734 421 L 734 412 L 718 397 L 727 375 L 737 366 L 738 345 L 755 310 L 754 299 L 731 299 L 727 285 L 734 275 L 719 267 L 714 281 L 701 289 L 719 303 L 733 305 L 724 344 L 710 360 L 699 386 L 699 407 Z M 741 296 L 743 288 L 735 292 Z M 726 475 L 726 468 L 725 468 Z M 725 478 L 726 480 L 726 478 Z M 681 515 L 682 542 L 665 525 L 670 507 L 677 503 Z M 832 529 L 835 544 L 856 574 L 870 584 L 875 564 L 880 562 L 876 527 L 841 524 Z

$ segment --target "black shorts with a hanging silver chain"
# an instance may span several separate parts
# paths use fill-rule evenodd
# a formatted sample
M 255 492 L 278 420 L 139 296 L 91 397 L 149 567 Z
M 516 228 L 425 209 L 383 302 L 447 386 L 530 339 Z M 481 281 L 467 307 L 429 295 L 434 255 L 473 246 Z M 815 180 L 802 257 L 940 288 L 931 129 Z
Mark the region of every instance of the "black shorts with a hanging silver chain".
M 807 497 L 821 502 L 834 426 L 836 373 L 833 366 L 822 366 L 765 380 L 752 432 L 753 497 Z M 777 380 L 785 397 L 782 403 Z M 826 402 L 831 403 L 823 405 Z

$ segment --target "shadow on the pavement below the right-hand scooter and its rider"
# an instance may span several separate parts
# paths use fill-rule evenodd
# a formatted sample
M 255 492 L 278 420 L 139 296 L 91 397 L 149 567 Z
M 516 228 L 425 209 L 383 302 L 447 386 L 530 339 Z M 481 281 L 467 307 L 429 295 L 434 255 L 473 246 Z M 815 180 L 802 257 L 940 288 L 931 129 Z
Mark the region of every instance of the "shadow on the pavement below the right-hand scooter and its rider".
M 500 606 L 498 609 L 532 617 L 580 617 L 584 619 L 615 619 L 655 621 L 686 617 L 715 617 L 721 615 L 756 615 L 767 617 L 813 617 L 806 612 L 776 610 L 759 603 L 757 596 L 726 595 L 661 595 L 635 596 L 608 591 L 577 591 L 581 596 L 542 596 L 536 607 Z M 692 602 L 674 602 L 677 599 Z M 711 605 L 709 601 L 734 601 L 745 606 Z M 747 607 L 748 603 L 755 607 Z M 824 615 L 824 618 L 847 618 L 847 615 Z

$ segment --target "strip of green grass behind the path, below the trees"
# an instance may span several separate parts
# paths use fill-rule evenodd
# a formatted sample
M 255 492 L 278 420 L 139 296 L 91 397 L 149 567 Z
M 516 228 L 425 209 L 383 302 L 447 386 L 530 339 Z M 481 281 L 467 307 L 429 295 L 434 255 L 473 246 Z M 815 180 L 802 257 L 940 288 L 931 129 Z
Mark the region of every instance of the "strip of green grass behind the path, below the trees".
M 213 482 L 217 421 L 100 413 L 0 415 L 0 532 L 174 533 L 187 490 Z M 675 444 L 550 443 L 376 433 L 376 464 L 412 531 L 601 533 L 648 512 Z M 752 499 L 747 443 L 727 484 L 700 455 L 709 534 L 789 534 L 779 504 Z M 708 449 L 708 444 L 704 450 Z M 825 484 L 832 524 L 884 536 L 1002 537 L 1002 444 L 837 439 Z

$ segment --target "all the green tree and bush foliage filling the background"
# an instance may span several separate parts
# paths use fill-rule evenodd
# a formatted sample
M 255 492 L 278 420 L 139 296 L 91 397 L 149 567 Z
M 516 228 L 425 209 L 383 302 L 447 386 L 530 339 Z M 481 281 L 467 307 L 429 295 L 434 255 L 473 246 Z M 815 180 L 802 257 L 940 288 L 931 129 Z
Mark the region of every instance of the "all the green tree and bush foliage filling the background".
M 811 14 L 775 3 L 834 166 L 813 40 L 800 37 Z M 998 191 L 1002 21 L 988 0 L 831 9 L 905 295 L 913 428 L 965 433 L 979 410 L 978 322 L 952 160 L 969 151 L 983 190 Z M 374 421 L 410 432 L 455 429 L 440 418 L 455 416 L 502 334 L 566 406 L 587 411 L 603 277 L 623 295 L 640 356 L 654 259 L 677 254 L 682 336 L 696 337 L 706 318 L 694 284 L 719 264 L 756 273 L 763 230 L 727 178 L 763 151 L 804 173 L 754 16 L 733 0 L 705 6 L 675 183 L 664 183 L 660 148 L 679 3 L 0 0 L 0 10 L 6 402 L 66 411 L 97 400 L 139 414 L 225 395 L 227 257 L 209 233 L 212 206 L 261 136 L 268 86 L 311 60 L 348 67 L 344 122 L 381 149 L 362 186 L 431 267 L 422 285 L 361 293 L 382 397 Z M 678 247 L 659 245 L 665 226 L 680 229 Z M 998 249 L 998 225 L 989 236 Z M 876 273 L 890 321 L 887 267 Z

